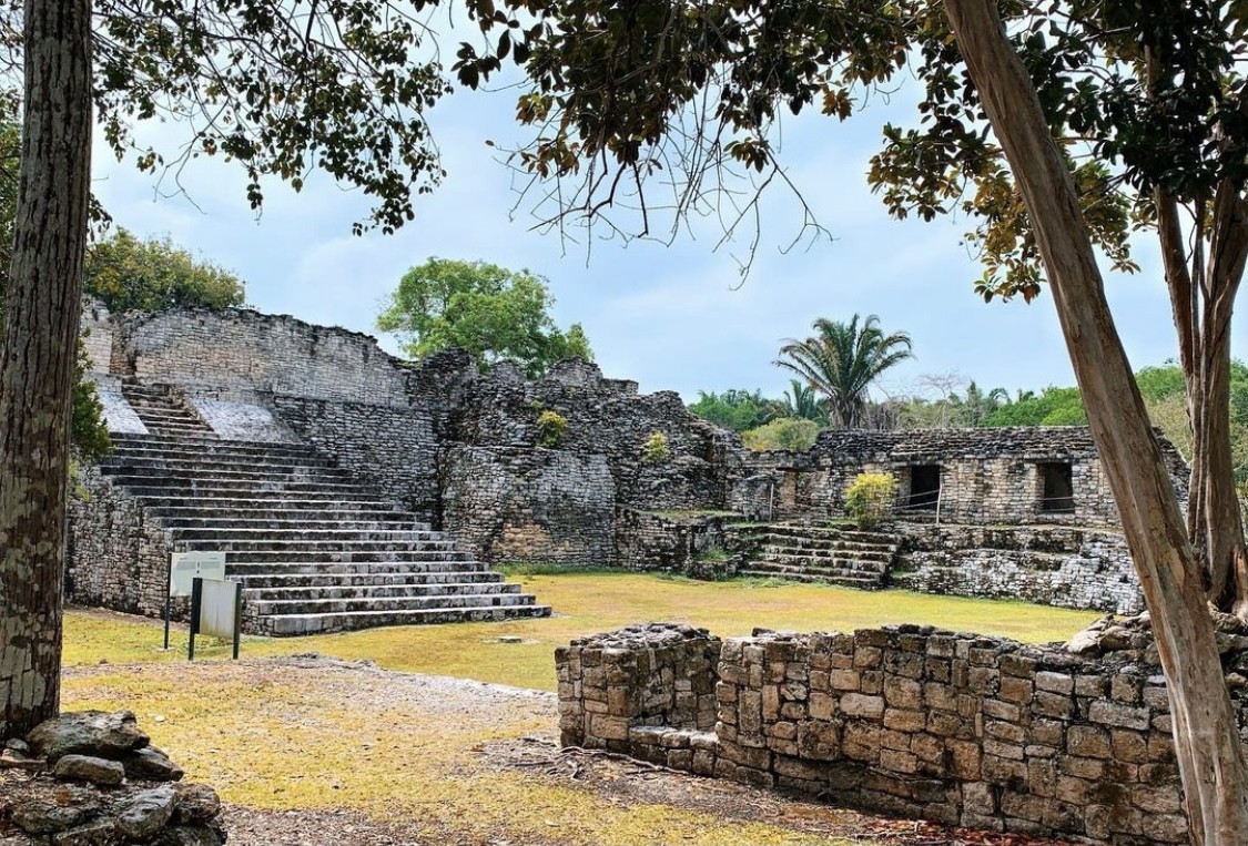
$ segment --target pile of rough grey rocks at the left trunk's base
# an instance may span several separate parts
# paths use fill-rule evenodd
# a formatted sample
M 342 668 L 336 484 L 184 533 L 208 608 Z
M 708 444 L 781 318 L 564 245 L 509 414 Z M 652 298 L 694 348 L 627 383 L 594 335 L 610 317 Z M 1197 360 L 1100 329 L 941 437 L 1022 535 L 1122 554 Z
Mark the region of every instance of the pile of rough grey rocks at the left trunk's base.
M 185 784 L 130 711 L 64 714 L 0 751 L 0 846 L 221 846 L 221 800 Z

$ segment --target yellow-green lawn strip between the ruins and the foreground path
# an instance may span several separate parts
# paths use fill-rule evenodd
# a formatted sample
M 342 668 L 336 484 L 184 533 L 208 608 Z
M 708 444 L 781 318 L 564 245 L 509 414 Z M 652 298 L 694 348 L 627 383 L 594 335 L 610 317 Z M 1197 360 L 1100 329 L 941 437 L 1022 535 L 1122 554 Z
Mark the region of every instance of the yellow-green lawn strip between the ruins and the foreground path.
M 1099 616 L 1026 603 L 935 596 L 900 590 L 751 581 L 694 581 L 633 573 L 515 575 L 524 590 L 550 605 L 547 619 L 372 629 L 308 638 L 247 638 L 247 656 L 319 653 L 371 659 L 391 670 L 452 675 L 478 681 L 554 690 L 557 646 L 573 638 L 630 623 L 679 621 L 720 636 L 755 626 L 794 631 L 851 631 L 889 623 L 921 623 L 1002 635 L 1028 643 L 1065 640 Z M 186 634 L 175 629 L 161 651 L 158 621 L 71 610 L 65 623 L 65 664 L 136 664 L 185 660 Z M 499 643 L 499 638 L 520 643 Z M 228 658 L 225 645 L 196 643 L 196 658 Z

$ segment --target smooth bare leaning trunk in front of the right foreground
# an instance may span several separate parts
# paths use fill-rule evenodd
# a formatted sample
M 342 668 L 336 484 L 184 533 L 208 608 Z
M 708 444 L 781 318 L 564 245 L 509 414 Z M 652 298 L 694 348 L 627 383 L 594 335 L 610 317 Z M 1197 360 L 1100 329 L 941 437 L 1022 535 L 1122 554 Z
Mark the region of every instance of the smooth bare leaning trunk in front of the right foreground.
M 1207 613 L 1204 574 L 1113 326 L 1070 172 L 996 2 L 945 0 L 945 9 L 1031 216 L 1092 435 L 1152 611 L 1192 840 L 1242 842 L 1248 766 Z

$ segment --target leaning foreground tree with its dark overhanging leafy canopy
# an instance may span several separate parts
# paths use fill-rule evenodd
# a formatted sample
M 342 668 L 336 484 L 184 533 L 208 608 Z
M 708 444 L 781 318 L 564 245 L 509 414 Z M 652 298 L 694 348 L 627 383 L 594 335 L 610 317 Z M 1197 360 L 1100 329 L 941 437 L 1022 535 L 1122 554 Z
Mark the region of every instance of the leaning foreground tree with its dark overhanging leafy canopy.
M 927 202 L 931 196 L 971 185 L 970 210 L 1003 222 L 988 230 L 998 238 L 987 245 L 990 262 L 1017 268 L 1023 291 L 1036 289 L 1027 275 L 1038 284 L 1043 267 L 1152 611 L 1193 841 L 1238 842 L 1248 830 L 1248 769 L 1204 588 L 1209 576 L 1221 598 L 1231 581 L 1243 584 L 1243 557 L 1218 552 L 1242 547 L 1242 530 L 1238 515 L 1223 527 L 1211 519 L 1219 510 L 1214 500 L 1226 500 L 1211 474 L 1194 518 L 1203 523 L 1196 534 L 1204 537 L 1208 565 L 1197 557 L 1103 296 L 1094 247 L 1126 266 L 1131 203 L 1117 188 L 1129 185 L 1154 201 L 1163 253 L 1173 255 L 1167 273 L 1177 280 L 1172 299 L 1189 401 L 1202 407 L 1192 412 L 1193 432 L 1209 450 L 1199 465 L 1224 469 L 1218 453 L 1228 439 L 1217 428 L 1228 417 L 1221 403 L 1229 357 L 1221 344 L 1229 334 L 1227 293 L 1248 251 L 1248 121 L 1236 64 L 1248 31 L 1243 4 L 1023 0 L 1006 4 L 1008 21 L 995 0 L 522 5 L 549 25 L 519 39 L 509 35 L 518 22 L 498 15 L 505 44 L 499 36 L 499 49 L 485 55 L 462 49 L 461 80 L 478 82 L 523 44 L 515 61 L 532 85 L 518 114 L 539 136 L 518 152 L 519 166 L 568 182 L 550 191 L 565 213 L 597 220 L 640 210 L 641 233 L 650 231 L 654 208 L 641 193 L 655 173 L 676 175 L 664 187 L 678 216 L 718 200 L 730 228 L 753 220 L 756 195 L 743 201 L 740 192 L 718 190 L 716 177 L 735 163 L 764 175 L 764 187 L 785 178 L 769 136 L 779 109 L 819 102 L 845 119 L 855 91 L 915 60 L 935 92 L 922 105 L 934 142 L 916 147 L 916 182 L 931 186 L 917 192 L 919 211 L 938 213 L 943 208 Z M 478 20 L 485 30 L 494 26 L 488 15 Z M 1080 137 L 1121 171 L 1075 162 L 1067 142 Z M 952 176 L 950 160 L 957 165 Z M 1172 198 L 1198 211 L 1201 237 L 1191 252 Z M 1223 257 L 1217 278 L 1201 270 L 1206 289 L 1187 288 L 1187 261 L 1206 268 L 1204 256 L 1214 253 Z M 1207 342 L 1194 341 L 1197 312 Z

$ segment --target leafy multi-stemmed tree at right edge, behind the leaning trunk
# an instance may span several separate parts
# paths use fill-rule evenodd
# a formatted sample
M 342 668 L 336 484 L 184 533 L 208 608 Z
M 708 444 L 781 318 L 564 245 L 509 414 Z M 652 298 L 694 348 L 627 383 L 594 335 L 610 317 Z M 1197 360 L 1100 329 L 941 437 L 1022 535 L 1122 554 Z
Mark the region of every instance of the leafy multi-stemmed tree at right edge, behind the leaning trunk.
M 1239 119 L 1248 11 L 1207 0 L 1138 9 L 1076 1 L 1017 4 L 1010 15 L 1093 243 L 1116 267 L 1136 270 L 1132 228 L 1157 236 L 1192 429 L 1188 532 L 1209 598 L 1248 621 L 1248 548 L 1228 429 L 1231 319 L 1248 260 L 1248 126 Z M 1045 270 L 1003 145 L 978 131 L 978 101 L 967 96 L 952 45 L 927 45 L 920 109 L 936 120 L 887 127 L 870 178 L 895 215 L 957 208 L 977 218 L 967 236 L 987 268 L 977 289 L 988 299 L 1030 301 Z

